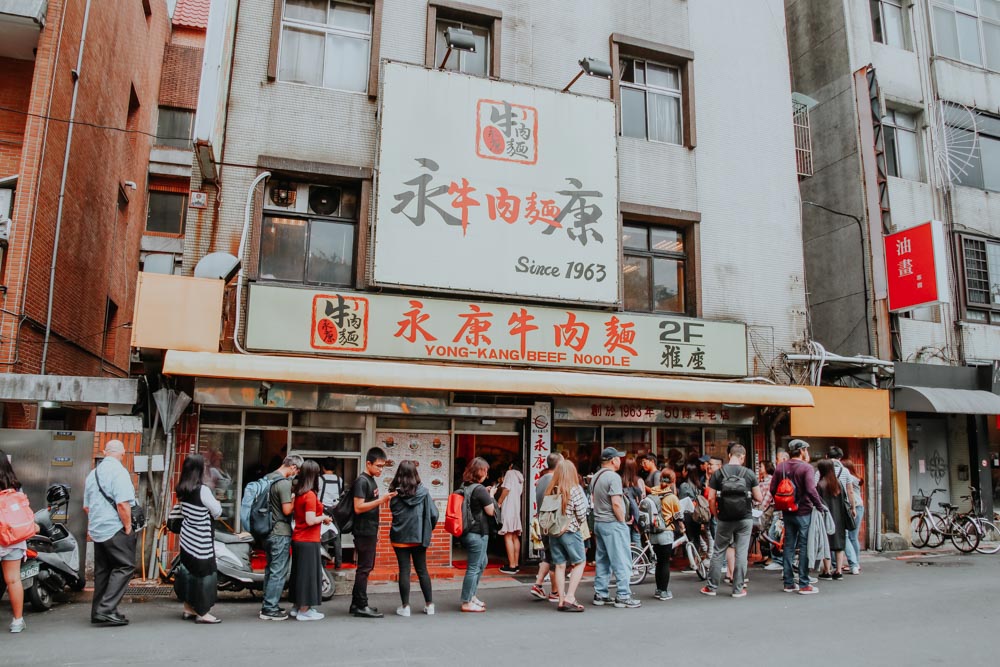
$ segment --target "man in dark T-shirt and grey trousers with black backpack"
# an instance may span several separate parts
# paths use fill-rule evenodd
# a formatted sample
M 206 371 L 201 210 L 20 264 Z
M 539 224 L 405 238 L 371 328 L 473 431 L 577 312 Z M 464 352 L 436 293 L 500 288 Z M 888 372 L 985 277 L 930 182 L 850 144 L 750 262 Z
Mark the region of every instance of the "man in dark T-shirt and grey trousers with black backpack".
M 716 594 L 722 578 L 722 567 L 726 562 L 726 549 L 730 546 L 736 547 L 733 597 L 742 598 L 747 594 L 744 579 L 750 533 L 753 530 L 751 499 L 760 502 L 763 495 L 757 475 L 744 466 L 746 459 L 746 448 L 743 445 L 733 445 L 729 451 L 729 463 L 719 468 L 708 481 L 708 503 L 719 525 L 715 533 L 715 552 L 712 555 L 708 583 L 701 589 L 704 595 Z

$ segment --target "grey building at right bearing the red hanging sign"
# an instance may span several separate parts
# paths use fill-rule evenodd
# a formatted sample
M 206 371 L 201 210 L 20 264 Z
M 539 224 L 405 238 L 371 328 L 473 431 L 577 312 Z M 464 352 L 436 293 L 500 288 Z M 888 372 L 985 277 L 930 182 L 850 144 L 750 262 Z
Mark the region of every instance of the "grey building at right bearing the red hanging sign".
M 1000 475 L 1000 3 L 785 9 L 792 87 L 812 107 L 813 173 L 800 187 L 814 336 L 855 357 L 827 379 L 892 389 L 885 509 L 901 532 L 910 496 L 935 488 L 966 506 L 974 485 L 989 511 Z

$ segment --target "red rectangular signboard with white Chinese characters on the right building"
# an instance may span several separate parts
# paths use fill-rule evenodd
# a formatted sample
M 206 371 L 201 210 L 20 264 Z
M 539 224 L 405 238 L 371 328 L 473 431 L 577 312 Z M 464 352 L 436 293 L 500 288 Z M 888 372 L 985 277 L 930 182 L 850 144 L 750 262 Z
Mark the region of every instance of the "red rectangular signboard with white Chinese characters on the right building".
M 943 288 L 944 244 L 940 223 L 927 222 L 885 237 L 889 310 L 947 300 Z

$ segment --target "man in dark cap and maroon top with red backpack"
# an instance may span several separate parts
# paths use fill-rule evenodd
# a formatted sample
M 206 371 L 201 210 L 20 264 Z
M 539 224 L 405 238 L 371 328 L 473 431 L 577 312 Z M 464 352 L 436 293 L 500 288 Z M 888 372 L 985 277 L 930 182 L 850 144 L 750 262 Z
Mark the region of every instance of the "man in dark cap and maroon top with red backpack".
M 785 548 L 782 554 L 784 591 L 811 595 L 819 591 L 809 582 L 809 524 L 814 507 L 824 513 L 828 510 L 816 492 L 816 479 L 813 468 L 809 465 L 809 443 L 805 440 L 792 440 L 788 443 L 788 455 L 789 460 L 779 464 L 775 469 L 770 489 L 771 496 L 775 497 L 778 484 L 782 480 L 787 478 L 795 485 L 797 509 L 794 512 L 782 512 L 785 523 Z M 792 573 L 792 561 L 795 559 L 796 549 L 799 551 L 798 586 L 795 585 Z

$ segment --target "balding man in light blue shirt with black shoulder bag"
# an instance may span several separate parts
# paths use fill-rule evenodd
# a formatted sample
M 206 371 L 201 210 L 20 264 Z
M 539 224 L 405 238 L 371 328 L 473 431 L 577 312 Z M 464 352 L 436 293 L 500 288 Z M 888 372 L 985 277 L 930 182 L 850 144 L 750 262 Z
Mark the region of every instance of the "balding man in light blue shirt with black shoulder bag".
M 135 533 L 132 506 L 135 488 L 122 465 L 125 445 L 111 440 L 104 446 L 104 459 L 87 475 L 83 490 L 83 511 L 87 532 L 94 543 L 94 598 L 90 622 L 100 625 L 128 625 L 118 611 L 132 574 L 135 572 Z

